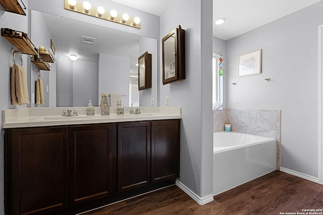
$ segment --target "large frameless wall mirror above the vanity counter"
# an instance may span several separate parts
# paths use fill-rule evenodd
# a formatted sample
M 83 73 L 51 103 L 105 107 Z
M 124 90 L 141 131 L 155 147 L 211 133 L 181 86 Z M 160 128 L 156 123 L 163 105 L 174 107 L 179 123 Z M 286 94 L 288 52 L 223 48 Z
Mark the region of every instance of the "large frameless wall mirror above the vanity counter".
M 49 49 L 51 40 L 55 44 L 51 71 L 41 71 L 48 83 L 44 92 L 49 106 L 84 107 L 90 99 L 98 106 L 103 92 L 120 94 L 124 106 L 140 105 L 136 65 L 140 41 L 153 40 L 157 46 L 155 39 L 31 10 L 31 40 L 37 48 Z M 72 61 L 70 54 L 78 59 Z M 32 65 L 32 79 L 33 71 Z

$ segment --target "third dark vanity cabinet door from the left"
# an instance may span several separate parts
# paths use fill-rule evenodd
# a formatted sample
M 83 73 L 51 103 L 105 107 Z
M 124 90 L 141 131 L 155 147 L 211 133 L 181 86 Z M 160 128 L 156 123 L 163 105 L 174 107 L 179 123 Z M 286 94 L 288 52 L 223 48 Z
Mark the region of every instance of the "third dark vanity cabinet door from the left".
M 150 184 L 150 122 L 118 124 L 118 192 Z

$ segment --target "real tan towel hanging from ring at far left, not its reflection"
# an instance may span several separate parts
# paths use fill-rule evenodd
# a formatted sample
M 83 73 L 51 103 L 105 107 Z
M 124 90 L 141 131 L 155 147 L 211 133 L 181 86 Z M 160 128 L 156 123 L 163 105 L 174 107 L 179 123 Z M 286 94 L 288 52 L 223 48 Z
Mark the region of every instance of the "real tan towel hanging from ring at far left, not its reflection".
M 11 68 L 11 105 L 29 104 L 28 86 L 24 67 L 16 63 Z

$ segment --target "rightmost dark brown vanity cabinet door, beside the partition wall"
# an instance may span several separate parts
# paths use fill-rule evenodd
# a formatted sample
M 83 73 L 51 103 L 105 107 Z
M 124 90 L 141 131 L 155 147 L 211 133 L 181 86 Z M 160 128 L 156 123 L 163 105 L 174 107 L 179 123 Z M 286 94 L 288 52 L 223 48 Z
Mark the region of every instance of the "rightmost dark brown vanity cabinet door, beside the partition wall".
M 151 183 L 179 177 L 179 120 L 151 122 Z

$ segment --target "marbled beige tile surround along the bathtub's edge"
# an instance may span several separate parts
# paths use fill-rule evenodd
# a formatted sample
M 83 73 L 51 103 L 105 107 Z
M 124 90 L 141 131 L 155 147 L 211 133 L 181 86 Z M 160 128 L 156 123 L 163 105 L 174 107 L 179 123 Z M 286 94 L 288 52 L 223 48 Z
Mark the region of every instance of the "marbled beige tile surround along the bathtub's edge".
M 280 168 L 281 110 L 224 108 L 213 111 L 213 131 L 231 131 L 277 139 L 277 169 Z

